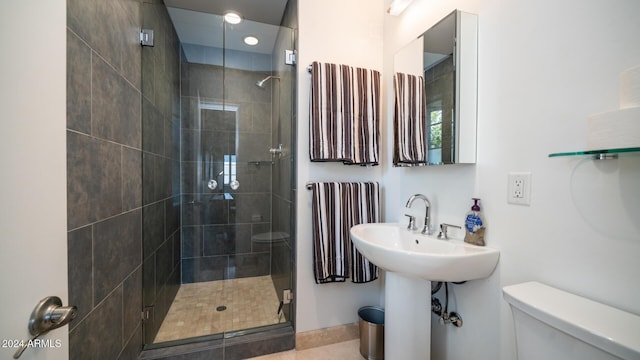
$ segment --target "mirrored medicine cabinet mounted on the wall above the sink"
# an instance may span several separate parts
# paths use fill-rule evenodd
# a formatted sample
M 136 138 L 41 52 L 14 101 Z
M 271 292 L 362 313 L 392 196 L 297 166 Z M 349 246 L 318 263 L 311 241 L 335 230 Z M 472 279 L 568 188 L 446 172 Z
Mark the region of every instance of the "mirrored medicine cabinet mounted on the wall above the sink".
M 395 54 L 424 79 L 428 165 L 476 162 L 478 17 L 455 10 Z

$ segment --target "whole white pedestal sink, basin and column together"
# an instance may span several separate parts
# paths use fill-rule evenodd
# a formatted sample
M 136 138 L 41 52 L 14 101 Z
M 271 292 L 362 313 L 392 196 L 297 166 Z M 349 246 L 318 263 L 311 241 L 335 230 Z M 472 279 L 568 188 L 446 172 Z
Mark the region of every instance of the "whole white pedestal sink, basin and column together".
M 429 359 L 430 281 L 486 278 L 500 252 L 460 240 L 444 240 L 407 230 L 398 223 L 361 224 L 351 240 L 369 261 L 384 269 L 385 358 Z

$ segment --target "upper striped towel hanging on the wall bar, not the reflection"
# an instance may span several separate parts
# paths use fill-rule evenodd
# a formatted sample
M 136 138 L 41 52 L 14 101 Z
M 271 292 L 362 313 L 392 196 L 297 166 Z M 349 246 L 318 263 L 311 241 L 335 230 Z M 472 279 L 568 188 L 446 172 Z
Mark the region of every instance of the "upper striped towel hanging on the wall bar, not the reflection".
M 319 62 L 311 67 L 311 161 L 377 165 L 380 73 Z

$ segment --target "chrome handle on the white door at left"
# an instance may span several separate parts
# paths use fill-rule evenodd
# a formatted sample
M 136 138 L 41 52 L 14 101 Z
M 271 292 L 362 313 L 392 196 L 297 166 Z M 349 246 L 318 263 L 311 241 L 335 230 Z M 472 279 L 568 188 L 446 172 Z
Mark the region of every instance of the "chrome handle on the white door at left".
M 78 315 L 78 308 L 75 306 L 62 306 L 62 300 L 57 296 L 47 296 L 40 300 L 29 318 L 29 332 L 33 337 L 13 354 L 13 358 L 19 358 L 29 347 L 29 344 L 40 335 L 65 326 L 75 319 L 76 315 Z

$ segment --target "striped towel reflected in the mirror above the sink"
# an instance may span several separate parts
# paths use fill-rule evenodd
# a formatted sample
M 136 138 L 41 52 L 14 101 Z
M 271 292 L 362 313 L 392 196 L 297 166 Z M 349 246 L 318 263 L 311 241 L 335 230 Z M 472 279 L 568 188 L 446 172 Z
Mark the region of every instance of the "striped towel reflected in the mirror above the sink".
M 393 165 L 427 164 L 426 97 L 422 76 L 396 73 L 393 77 Z

